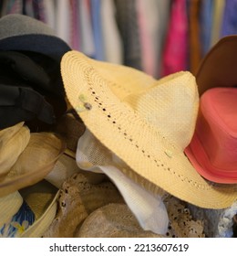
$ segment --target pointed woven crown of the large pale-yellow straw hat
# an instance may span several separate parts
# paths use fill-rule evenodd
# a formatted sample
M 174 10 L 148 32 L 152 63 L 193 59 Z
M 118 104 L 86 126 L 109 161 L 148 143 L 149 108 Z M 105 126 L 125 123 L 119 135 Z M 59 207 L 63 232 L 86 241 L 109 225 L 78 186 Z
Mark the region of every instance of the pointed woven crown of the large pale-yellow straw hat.
M 179 150 L 183 151 L 191 142 L 199 96 L 190 72 L 171 74 L 148 89 L 130 94 L 124 102 Z

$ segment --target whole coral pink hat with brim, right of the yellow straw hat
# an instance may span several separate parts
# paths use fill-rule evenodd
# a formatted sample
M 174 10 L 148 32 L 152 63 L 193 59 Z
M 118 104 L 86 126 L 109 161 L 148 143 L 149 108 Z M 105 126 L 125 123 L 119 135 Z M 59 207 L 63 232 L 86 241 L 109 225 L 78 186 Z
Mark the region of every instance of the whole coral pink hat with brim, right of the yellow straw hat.
M 191 144 L 185 153 L 201 176 L 237 184 L 237 89 L 217 87 L 201 95 Z

